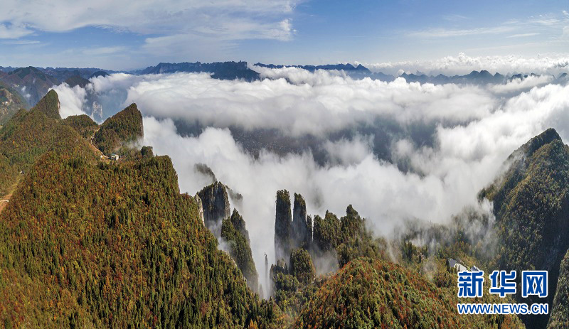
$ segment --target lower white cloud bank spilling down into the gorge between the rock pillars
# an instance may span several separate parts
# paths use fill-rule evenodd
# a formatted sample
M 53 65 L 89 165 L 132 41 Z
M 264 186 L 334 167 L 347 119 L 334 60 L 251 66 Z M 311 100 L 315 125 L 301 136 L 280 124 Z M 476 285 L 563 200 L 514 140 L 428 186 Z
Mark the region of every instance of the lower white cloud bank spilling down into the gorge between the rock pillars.
M 277 156 L 263 151 L 254 158 L 227 129 L 208 128 L 195 137 L 176 134 L 170 119 L 145 118 L 144 144 L 171 156 L 181 190 L 195 193 L 209 178 L 193 170 L 206 163 L 217 178 L 243 195 L 240 212 L 248 223 L 255 261 L 272 256 L 275 192 L 301 193 L 310 214 L 342 214 L 353 204 L 376 232 L 388 234 L 405 219 L 447 222 L 465 205 L 476 205 L 477 192 L 501 171 L 501 163 L 521 144 L 548 126 L 569 133 L 569 87 L 534 88 L 497 111 L 465 125 L 439 127 L 437 146 L 417 148 L 405 139 L 394 147 L 419 173 L 400 171 L 378 160 L 365 139 L 326 143 L 340 157 L 319 166 L 310 153 Z M 465 103 L 467 104 L 467 103 Z M 234 205 L 235 206 L 235 205 Z

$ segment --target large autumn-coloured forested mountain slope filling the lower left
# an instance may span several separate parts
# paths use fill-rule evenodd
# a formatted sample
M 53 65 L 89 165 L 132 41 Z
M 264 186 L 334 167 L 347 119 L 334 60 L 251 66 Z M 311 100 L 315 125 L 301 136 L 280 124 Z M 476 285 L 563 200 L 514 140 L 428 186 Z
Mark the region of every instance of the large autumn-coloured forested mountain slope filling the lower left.
M 6 159 L 27 166 L 0 213 L 0 327 L 277 323 L 179 193 L 169 157 L 106 163 L 62 122 L 31 110 L 0 131 Z M 31 129 L 42 139 L 25 139 Z M 16 141 L 26 147 L 6 151 Z

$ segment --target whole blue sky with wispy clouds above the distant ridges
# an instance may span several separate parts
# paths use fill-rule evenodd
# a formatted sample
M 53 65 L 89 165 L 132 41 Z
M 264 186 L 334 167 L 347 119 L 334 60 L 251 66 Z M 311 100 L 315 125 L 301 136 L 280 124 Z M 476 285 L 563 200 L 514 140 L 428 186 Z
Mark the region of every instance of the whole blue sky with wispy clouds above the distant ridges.
M 569 53 L 569 1 L 2 1 L 0 65 L 144 68 Z

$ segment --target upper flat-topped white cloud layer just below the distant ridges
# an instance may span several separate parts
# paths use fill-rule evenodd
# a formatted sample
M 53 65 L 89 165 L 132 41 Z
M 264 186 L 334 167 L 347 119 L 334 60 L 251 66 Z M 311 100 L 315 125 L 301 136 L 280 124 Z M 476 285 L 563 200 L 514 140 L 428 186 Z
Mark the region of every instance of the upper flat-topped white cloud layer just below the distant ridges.
M 273 76 L 294 84 L 285 78 L 216 80 L 205 73 L 121 74 L 92 80 L 92 89 L 105 97 L 124 97 L 118 102 L 122 105 L 137 102 L 144 114 L 154 117 L 219 128 L 278 129 L 287 136 L 324 136 L 376 117 L 400 124 L 468 122 L 486 115 L 494 104 L 487 90 L 474 86 L 421 85 L 403 78 L 351 80 L 298 68 L 275 70 Z M 463 110 L 464 102 L 469 111 Z

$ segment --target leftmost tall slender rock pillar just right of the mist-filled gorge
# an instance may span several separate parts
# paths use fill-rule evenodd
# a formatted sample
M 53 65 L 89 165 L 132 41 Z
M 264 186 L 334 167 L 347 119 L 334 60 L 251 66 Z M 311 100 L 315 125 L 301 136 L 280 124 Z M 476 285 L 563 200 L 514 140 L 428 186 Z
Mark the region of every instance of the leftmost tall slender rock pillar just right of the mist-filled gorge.
M 275 215 L 275 257 L 288 259 L 291 251 L 292 214 L 290 194 L 287 190 L 277 191 L 277 211 Z

